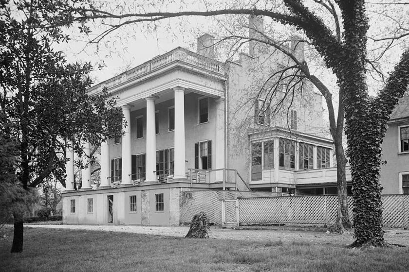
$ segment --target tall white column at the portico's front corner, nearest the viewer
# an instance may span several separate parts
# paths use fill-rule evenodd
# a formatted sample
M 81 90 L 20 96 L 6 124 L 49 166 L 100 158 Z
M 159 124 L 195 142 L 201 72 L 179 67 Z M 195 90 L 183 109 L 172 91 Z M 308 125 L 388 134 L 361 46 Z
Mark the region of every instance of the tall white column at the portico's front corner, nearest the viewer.
M 175 87 L 175 173 L 173 179 L 186 179 L 185 165 L 185 88 Z

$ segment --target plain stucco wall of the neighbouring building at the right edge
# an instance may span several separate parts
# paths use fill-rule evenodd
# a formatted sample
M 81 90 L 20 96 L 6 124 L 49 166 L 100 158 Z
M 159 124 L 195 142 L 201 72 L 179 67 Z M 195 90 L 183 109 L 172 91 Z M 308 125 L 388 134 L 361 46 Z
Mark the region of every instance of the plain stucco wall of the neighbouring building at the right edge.
M 409 121 L 389 124 L 382 143 L 381 186 L 383 194 L 399 194 L 399 173 L 409 171 L 409 153 L 399 154 L 398 126 L 409 125 Z

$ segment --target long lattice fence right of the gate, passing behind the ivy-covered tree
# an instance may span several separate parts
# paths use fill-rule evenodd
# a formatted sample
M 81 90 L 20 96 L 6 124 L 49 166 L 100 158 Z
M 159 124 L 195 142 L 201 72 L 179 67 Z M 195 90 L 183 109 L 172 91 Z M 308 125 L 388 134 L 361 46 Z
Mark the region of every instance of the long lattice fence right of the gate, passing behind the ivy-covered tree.
M 384 195 L 385 227 L 409 227 L 409 195 Z M 353 219 L 352 196 L 348 196 Z M 294 196 L 239 199 L 240 224 L 333 224 L 337 196 Z

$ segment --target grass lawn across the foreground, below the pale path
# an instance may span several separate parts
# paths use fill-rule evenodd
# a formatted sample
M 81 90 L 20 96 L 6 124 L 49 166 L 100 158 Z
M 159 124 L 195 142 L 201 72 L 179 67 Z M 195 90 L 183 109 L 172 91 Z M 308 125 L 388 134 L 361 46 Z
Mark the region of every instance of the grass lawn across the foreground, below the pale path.
M 7 232 L 0 238 L 0 271 L 5 272 L 409 271 L 408 248 L 352 250 L 297 240 L 198 240 L 26 227 L 23 253 L 11 254 L 12 228 L 1 231 Z

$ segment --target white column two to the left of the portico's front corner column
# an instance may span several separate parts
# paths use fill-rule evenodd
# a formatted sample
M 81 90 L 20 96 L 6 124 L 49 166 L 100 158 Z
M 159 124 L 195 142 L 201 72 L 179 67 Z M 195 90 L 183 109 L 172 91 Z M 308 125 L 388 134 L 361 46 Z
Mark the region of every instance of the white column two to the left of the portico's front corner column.
M 121 186 L 130 185 L 130 171 L 131 171 L 131 154 L 130 154 L 130 106 L 122 106 L 122 114 L 126 126 L 122 127 L 124 134 L 122 135 L 122 181 Z

